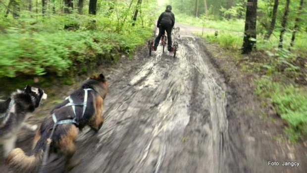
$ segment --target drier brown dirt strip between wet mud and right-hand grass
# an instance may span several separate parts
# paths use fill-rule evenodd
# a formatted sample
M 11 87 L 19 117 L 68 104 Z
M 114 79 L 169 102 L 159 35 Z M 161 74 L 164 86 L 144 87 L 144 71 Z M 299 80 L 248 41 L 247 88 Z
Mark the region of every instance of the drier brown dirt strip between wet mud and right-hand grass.
M 251 173 L 306 173 L 307 170 L 307 146 L 304 142 L 297 144 L 290 141 L 274 139 L 277 135 L 285 136 L 283 122 L 277 116 L 268 115 L 268 110 L 261 105 L 261 100 L 253 94 L 252 74 L 240 70 L 233 57 L 225 54 L 222 48 L 213 43 L 207 43 L 203 39 L 197 42 L 204 47 L 208 61 L 216 71 L 224 78 L 227 85 L 226 95 L 228 104 L 226 107 L 229 121 L 229 132 L 243 134 L 246 163 L 246 172 Z M 236 125 L 238 127 L 232 126 Z M 261 158 L 262 160 L 256 160 Z M 268 166 L 268 162 L 300 162 L 299 167 Z

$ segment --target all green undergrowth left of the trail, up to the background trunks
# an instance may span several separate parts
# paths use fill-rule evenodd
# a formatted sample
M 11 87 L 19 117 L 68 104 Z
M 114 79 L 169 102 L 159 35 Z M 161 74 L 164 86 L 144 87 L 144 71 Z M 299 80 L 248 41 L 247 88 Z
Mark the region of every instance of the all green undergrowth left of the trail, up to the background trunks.
M 116 62 L 120 53 L 131 57 L 133 50 L 153 35 L 155 2 L 143 2 L 135 27 L 131 25 L 136 2 L 114 2 L 99 1 L 96 16 L 77 14 L 77 9 L 65 14 L 63 4 L 54 0 L 48 2 L 44 15 L 40 10 L 36 13 L 33 4 L 32 12 L 28 11 L 28 2 L 21 4 L 18 18 L 0 15 L 0 78 L 46 73 L 72 76 L 96 64 Z M 74 31 L 64 30 L 68 25 L 74 26 Z

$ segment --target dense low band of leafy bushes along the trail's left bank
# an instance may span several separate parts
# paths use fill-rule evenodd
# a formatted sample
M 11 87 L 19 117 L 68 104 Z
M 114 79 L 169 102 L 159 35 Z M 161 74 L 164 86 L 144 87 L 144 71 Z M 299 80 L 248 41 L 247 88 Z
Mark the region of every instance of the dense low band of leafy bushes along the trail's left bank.
M 150 28 L 134 28 L 122 34 L 100 31 L 58 31 L 55 33 L 11 33 L 0 35 L 0 77 L 17 73 L 44 75 L 67 72 L 74 64 L 118 59 L 118 52 L 130 53 L 152 36 Z

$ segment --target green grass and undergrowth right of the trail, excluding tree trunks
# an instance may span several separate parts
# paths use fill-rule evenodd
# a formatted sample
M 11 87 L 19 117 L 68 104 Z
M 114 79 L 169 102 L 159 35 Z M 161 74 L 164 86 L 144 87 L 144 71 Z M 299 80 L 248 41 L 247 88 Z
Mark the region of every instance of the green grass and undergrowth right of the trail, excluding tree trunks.
M 194 19 L 197 21 L 199 19 Z M 217 21 L 219 22 L 219 21 Z M 234 27 L 231 31 L 227 31 L 228 26 L 233 21 L 223 21 L 229 24 L 219 26 L 213 22 L 213 27 L 220 29 L 218 36 L 214 36 L 214 32 L 205 32 L 202 36 L 206 41 L 216 43 L 223 47 L 230 57 L 233 57 L 243 72 L 257 74 L 262 76 L 255 81 L 255 94 L 264 102 L 263 106 L 271 105 L 280 117 L 285 120 L 288 125 L 285 127 L 285 132 L 288 138 L 296 142 L 304 140 L 307 137 L 307 87 L 296 83 L 298 76 L 307 78 L 307 38 L 306 32 L 298 32 L 294 47 L 289 51 L 291 32 L 286 32 L 284 35 L 284 48 L 278 48 L 279 30 L 273 33 L 268 41 L 263 37 L 257 36 L 256 51 L 250 55 L 241 55 L 240 48 L 243 44 L 243 32 Z M 191 22 L 193 24 L 193 20 Z M 207 25 L 209 26 L 209 25 Z M 305 65 L 297 62 L 298 57 L 305 59 Z

